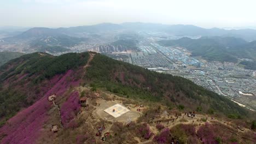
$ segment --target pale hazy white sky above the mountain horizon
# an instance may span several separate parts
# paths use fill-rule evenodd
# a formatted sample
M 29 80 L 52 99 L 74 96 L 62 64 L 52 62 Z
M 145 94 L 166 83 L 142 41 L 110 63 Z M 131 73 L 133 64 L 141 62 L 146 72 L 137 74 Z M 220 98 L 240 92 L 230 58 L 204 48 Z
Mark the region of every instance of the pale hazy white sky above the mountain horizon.
M 69 27 L 154 22 L 256 26 L 255 0 L 0 0 L 0 26 Z

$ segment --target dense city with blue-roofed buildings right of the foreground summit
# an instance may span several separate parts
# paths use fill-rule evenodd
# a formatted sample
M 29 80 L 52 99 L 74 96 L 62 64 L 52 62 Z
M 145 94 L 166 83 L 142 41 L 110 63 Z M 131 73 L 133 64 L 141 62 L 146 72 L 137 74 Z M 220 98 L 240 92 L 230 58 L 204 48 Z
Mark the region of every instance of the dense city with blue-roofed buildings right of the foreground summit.
M 206 61 L 192 57 L 190 51 L 181 46 L 161 46 L 159 33 L 138 33 L 140 40 L 136 51 L 119 49 L 121 46 L 103 45 L 89 51 L 139 65 L 158 73 L 182 76 L 210 91 L 230 98 L 234 103 L 249 110 L 256 110 L 256 70 L 248 70 L 237 63 Z M 166 34 L 163 33 L 166 38 Z M 138 36 L 138 37 L 139 37 Z M 167 38 L 178 39 L 173 35 Z M 240 59 L 242 61 L 242 59 Z

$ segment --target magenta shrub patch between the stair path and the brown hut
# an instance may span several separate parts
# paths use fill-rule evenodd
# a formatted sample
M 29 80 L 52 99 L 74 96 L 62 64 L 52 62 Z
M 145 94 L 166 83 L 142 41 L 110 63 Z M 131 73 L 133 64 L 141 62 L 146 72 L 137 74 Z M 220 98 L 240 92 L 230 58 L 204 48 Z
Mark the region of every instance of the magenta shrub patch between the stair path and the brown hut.
M 68 123 L 77 115 L 80 107 L 79 93 L 76 91 L 72 92 L 68 100 L 61 106 L 61 120 L 65 127 L 67 127 Z

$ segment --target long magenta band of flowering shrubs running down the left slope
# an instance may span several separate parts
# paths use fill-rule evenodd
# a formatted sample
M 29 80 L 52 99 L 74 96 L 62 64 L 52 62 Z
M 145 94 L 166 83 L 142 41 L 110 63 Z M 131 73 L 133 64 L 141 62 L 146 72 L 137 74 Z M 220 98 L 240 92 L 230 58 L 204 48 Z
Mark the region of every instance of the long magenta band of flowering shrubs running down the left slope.
M 74 71 L 68 70 L 66 74 L 56 75 L 51 80 L 46 81 L 46 87 L 40 87 L 43 93 L 38 94 L 39 96 L 37 95 L 39 100 L 18 112 L 0 128 L 0 136 L 4 136 L 1 143 L 35 143 L 40 136 L 40 129 L 48 119 L 47 112 L 51 109 L 53 104 L 48 101 L 48 96 L 56 93 L 57 97 L 59 97 L 61 94 L 65 93 L 70 86 L 78 86 L 79 81 L 67 81 L 67 77 L 73 77 L 73 75 Z M 47 86 L 48 82 L 49 86 Z M 26 86 L 26 84 L 24 86 Z M 41 94 L 43 96 L 40 96 Z M 71 96 L 71 98 L 77 98 L 78 93 L 73 93 Z M 78 108 L 79 105 L 75 105 L 75 107 Z M 75 109 L 75 112 L 76 110 L 77 109 Z

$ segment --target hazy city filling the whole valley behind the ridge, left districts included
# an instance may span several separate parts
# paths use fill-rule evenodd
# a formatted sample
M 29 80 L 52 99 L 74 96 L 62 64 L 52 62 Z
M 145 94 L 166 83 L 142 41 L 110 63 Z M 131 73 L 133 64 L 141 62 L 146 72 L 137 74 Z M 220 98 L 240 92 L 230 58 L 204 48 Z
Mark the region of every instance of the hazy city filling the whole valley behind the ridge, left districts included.
M 65 51 L 43 49 L 44 52 L 59 56 L 68 52 L 95 51 L 158 73 L 185 77 L 197 85 L 230 98 L 242 107 L 256 110 L 256 70 L 245 69 L 240 64 L 241 61 L 251 61 L 251 59 L 240 58 L 237 62 L 207 61 L 204 57 L 192 56 L 191 51 L 185 46 L 165 46 L 159 43 L 161 40 L 178 40 L 184 37 L 200 39 L 201 36 L 177 36 L 148 31 L 75 34 L 86 40 L 62 46 Z M 41 50 L 41 48 L 28 49 L 31 44 L 24 40 L 11 43 L 7 40 L 0 41 L 0 51 L 31 53 Z M 58 39 L 48 36 L 39 41 L 46 41 L 45 44 L 49 45 Z

